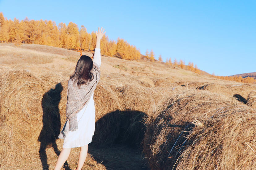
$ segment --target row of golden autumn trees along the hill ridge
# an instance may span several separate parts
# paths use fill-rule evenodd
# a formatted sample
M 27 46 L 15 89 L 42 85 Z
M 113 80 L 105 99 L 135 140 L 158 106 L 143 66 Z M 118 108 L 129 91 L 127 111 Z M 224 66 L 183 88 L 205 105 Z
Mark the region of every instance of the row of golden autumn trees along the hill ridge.
M 60 23 L 58 26 L 54 21 L 41 20 L 29 20 L 26 17 L 24 20 L 19 21 L 14 18 L 8 20 L 4 18 L 3 13 L 0 13 L 0 42 L 13 42 L 16 44 L 40 44 L 53 47 L 61 47 L 65 49 L 74 50 L 80 48 L 83 51 L 93 51 L 96 46 L 96 34 L 87 32 L 85 26 L 81 26 L 69 22 L 68 25 Z M 136 46 L 130 45 L 126 40 L 117 38 L 115 40 L 109 40 L 107 35 L 101 39 L 101 54 L 106 56 L 117 56 L 121 59 L 127 60 L 139 60 L 141 56 L 149 61 L 156 61 L 154 51 L 147 50 L 145 55 L 141 55 Z M 158 62 L 167 64 L 168 66 L 180 67 L 182 69 L 193 71 L 197 74 L 201 74 L 202 71 L 198 69 L 197 65 L 193 62 L 189 62 L 185 65 L 183 60 L 177 61 L 175 58 L 173 61 L 171 58 L 167 58 L 166 62 L 163 62 L 162 56 L 158 57 Z M 216 76 L 217 79 L 224 79 L 230 81 L 237 81 L 241 83 L 256 83 L 254 77 L 241 75 L 234 76 Z

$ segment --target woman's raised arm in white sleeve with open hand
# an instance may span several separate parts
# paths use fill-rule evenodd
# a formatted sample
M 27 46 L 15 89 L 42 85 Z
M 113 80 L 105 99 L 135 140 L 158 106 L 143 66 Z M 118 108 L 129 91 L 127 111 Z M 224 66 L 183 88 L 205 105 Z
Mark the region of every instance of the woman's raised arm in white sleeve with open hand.
M 97 37 L 97 40 L 96 40 L 96 47 L 95 47 L 95 53 L 94 53 L 94 57 L 93 57 L 93 62 L 97 63 L 99 66 L 101 64 L 101 57 L 100 57 L 100 40 L 101 38 L 103 37 L 103 35 L 106 33 L 104 32 L 104 29 L 102 30 L 102 27 L 100 29 L 98 29 L 98 32 L 96 31 L 96 37 Z

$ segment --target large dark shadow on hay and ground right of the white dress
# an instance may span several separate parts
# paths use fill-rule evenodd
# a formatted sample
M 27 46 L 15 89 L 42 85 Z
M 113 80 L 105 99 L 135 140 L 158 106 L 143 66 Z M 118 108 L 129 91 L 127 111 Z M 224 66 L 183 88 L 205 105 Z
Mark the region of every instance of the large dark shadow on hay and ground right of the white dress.
M 120 122 L 114 122 L 116 116 L 120 118 Z M 97 163 L 103 164 L 107 169 L 147 170 L 148 167 L 141 155 L 146 117 L 146 113 L 135 110 L 116 110 L 105 114 L 96 121 L 95 135 L 89 144 L 88 152 Z M 107 124 L 112 124 L 117 129 L 112 131 L 113 128 L 104 127 Z

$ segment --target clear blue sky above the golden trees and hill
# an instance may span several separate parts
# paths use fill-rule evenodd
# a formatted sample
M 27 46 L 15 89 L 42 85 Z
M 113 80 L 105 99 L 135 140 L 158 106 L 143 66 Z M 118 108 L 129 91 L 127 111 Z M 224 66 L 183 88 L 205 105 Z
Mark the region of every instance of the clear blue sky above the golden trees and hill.
M 215 75 L 256 71 L 256 1 L 13 1 L 0 0 L 8 19 L 103 26 L 142 54 L 185 60 Z

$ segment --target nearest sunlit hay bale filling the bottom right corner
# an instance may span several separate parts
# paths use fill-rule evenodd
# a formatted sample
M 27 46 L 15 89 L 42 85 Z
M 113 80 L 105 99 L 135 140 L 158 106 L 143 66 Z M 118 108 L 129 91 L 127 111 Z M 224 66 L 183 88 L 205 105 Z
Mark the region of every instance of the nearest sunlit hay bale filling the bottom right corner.
M 256 111 L 233 108 L 187 137 L 190 145 L 177 160 L 178 169 L 256 169 Z

